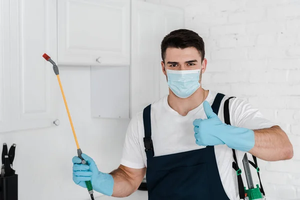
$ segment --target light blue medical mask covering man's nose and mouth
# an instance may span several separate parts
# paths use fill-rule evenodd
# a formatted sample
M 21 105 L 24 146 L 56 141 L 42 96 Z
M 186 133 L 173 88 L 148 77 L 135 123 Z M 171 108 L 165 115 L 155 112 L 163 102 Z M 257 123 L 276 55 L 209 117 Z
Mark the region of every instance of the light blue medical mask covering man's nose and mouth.
M 187 98 L 200 86 L 200 69 L 195 70 L 170 70 L 166 69 L 167 84 L 172 92 L 180 97 Z

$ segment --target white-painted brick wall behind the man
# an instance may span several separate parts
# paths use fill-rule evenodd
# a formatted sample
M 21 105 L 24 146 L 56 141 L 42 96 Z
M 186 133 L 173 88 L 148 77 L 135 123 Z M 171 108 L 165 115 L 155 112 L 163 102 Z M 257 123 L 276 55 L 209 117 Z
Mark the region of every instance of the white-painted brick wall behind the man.
M 181 6 L 185 27 L 205 42 L 203 87 L 246 98 L 293 144 L 290 160 L 259 160 L 267 199 L 299 200 L 300 0 L 184 0 Z

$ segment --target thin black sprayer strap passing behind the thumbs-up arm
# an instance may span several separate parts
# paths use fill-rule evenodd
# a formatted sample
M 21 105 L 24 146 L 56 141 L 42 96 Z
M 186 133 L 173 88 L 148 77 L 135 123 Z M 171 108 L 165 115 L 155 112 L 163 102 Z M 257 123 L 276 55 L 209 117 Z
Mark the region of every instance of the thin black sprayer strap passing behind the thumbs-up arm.
M 229 115 L 229 99 L 230 98 L 234 98 L 234 96 L 227 98 L 224 102 L 224 122 L 228 125 L 231 125 L 230 115 Z M 234 159 L 234 161 L 232 162 L 232 168 L 234 168 L 234 170 L 236 171 L 236 175 L 237 175 L 239 198 L 244 199 L 245 198 L 245 190 L 244 190 L 244 185 L 243 185 L 242 178 L 241 178 L 241 169 L 238 167 L 235 150 L 233 148 L 232 148 L 232 153 L 233 153 L 233 159 Z

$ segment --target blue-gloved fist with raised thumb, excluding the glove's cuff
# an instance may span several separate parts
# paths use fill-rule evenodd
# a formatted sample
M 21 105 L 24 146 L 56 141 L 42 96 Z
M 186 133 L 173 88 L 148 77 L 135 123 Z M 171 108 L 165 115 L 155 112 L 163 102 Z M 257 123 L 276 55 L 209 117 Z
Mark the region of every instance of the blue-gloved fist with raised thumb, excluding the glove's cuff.
M 203 108 L 207 119 L 195 119 L 193 121 L 196 144 L 201 146 L 224 144 L 220 137 L 221 134 L 224 134 L 223 129 L 226 124 L 212 111 L 206 100 L 203 102 Z

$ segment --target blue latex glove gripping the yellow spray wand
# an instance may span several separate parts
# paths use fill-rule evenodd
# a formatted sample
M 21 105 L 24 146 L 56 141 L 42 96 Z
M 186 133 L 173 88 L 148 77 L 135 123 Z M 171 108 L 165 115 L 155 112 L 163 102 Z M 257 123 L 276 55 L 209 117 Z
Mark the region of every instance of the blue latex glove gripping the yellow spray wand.
M 108 173 L 99 171 L 93 159 L 86 154 L 82 153 L 81 156 L 87 164 L 80 164 L 81 159 L 77 156 L 72 158 L 73 181 L 86 188 L 85 181 L 90 180 L 93 190 L 111 196 L 114 183 L 113 177 Z

